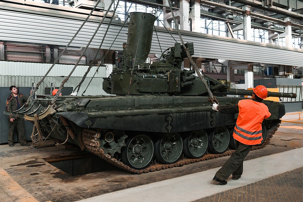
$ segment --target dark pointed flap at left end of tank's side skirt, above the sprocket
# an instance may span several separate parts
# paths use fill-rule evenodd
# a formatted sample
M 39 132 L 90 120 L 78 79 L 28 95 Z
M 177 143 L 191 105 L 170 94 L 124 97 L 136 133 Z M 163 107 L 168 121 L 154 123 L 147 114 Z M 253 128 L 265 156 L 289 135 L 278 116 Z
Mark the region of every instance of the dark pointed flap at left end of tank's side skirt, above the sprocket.
M 74 122 L 80 127 L 87 128 L 90 125 L 88 120 L 88 114 L 86 114 L 85 112 L 59 112 L 56 114 L 67 118 L 68 120 Z

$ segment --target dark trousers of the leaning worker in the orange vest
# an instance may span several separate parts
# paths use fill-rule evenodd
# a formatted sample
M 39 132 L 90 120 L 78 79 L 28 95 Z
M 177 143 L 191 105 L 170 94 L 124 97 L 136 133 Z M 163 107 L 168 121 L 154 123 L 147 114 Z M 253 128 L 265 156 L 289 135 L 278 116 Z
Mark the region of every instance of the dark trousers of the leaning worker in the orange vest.
M 252 145 L 243 144 L 235 140 L 236 151 L 217 171 L 215 176 L 220 180 L 226 180 L 232 174 L 233 178 L 240 178 L 243 173 L 243 160 L 251 151 Z

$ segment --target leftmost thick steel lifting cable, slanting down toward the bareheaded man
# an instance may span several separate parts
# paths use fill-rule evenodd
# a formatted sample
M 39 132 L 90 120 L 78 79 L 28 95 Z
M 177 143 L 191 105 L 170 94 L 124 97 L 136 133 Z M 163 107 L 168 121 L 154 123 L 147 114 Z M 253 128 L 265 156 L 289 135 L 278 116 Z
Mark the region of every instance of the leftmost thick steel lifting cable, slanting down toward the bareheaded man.
M 46 72 L 46 74 L 43 76 L 43 78 L 41 79 L 41 81 L 39 81 L 39 83 L 36 85 L 36 87 L 34 88 L 34 90 L 32 91 L 32 93 L 29 95 L 28 99 L 27 99 L 27 103 L 29 103 L 29 101 L 31 101 L 32 97 L 34 96 L 35 92 L 38 90 L 40 84 L 44 81 L 44 79 L 46 78 L 46 76 L 48 75 L 48 73 L 52 70 L 52 68 L 55 66 L 55 64 L 59 61 L 59 59 L 61 58 L 61 56 L 63 55 L 63 53 L 66 51 L 66 49 L 69 47 L 69 45 L 71 45 L 72 41 L 76 38 L 76 36 L 78 35 L 78 33 L 80 32 L 80 30 L 82 29 L 82 27 L 85 25 L 85 23 L 88 21 L 88 18 L 92 15 L 92 13 L 95 11 L 95 8 L 97 8 L 97 5 L 101 2 L 101 0 L 98 0 L 96 2 L 96 5 L 94 6 L 94 8 L 91 10 L 91 12 L 88 14 L 88 16 L 86 17 L 86 19 L 84 20 L 84 22 L 82 23 L 82 25 L 79 27 L 78 31 L 75 33 L 75 35 L 73 36 L 73 38 L 68 42 L 68 44 L 66 45 L 66 47 L 63 49 L 63 51 L 61 52 L 61 54 L 58 56 L 58 58 L 56 59 L 56 61 L 52 64 L 52 66 L 48 69 L 48 71 Z

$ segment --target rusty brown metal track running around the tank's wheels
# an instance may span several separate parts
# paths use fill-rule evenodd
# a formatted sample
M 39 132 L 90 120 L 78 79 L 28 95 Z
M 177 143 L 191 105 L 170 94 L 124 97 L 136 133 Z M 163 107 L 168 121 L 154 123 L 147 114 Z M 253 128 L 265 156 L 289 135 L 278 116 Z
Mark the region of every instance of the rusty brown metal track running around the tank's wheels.
M 267 131 L 266 131 L 266 139 L 264 143 L 261 146 L 253 146 L 251 150 L 256 150 L 256 149 L 261 149 L 265 147 L 266 144 L 269 143 L 270 139 L 272 138 L 273 134 L 277 131 L 278 127 L 280 126 L 281 121 L 279 121 L 277 124 L 272 125 Z M 89 130 L 89 129 L 83 129 L 82 131 L 82 140 L 85 145 L 85 147 L 93 154 L 97 155 L 98 157 L 101 157 L 105 161 L 117 166 L 118 168 L 121 168 L 125 171 L 132 172 L 132 173 L 137 173 L 137 174 L 142 174 L 142 173 L 148 173 L 148 172 L 154 172 L 154 171 L 159 171 L 162 169 L 167 169 L 167 168 L 172 168 L 172 167 L 178 167 L 178 166 L 183 166 L 185 164 L 192 164 L 200 161 L 205 161 L 209 159 L 214 159 L 218 157 L 224 157 L 231 155 L 235 150 L 228 150 L 225 151 L 222 154 L 205 154 L 201 158 L 197 159 L 191 159 L 191 158 L 181 158 L 179 161 L 177 161 L 174 164 L 150 164 L 149 167 L 142 169 L 142 170 L 135 170 L 128 165 L 125 165 L 121 161 L 118 161 L 116 158 L 110 156 L 109 154 L 104 154 L 104 150 L 102 148 L 98 148 L 98 143 L 96 143 L 98 135 L 98 131 L 94 130 Z

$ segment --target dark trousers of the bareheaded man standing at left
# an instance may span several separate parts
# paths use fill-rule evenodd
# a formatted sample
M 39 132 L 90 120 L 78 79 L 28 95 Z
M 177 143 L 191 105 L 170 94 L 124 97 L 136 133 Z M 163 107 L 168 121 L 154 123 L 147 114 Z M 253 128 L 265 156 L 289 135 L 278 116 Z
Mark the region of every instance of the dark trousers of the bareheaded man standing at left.
M 26 137 L 24 134 L 24 122 L 22 118 L 15 118 L 13 123 L 8 119 L 8 144 L 14 143 L 13 133 L 15 128 L 17 128 L 20 144 L 26 144 Z

